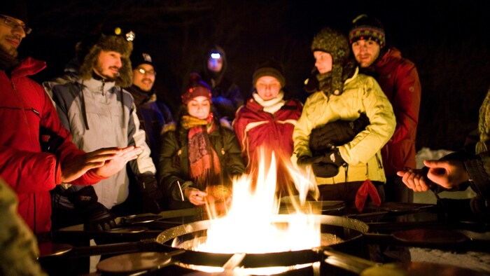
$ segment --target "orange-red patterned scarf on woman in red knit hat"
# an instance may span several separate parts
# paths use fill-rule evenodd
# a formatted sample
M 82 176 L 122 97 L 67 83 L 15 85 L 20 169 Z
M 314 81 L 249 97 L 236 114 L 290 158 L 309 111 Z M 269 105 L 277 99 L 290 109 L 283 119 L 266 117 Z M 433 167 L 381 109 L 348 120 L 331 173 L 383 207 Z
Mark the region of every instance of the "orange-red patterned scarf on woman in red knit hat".
M 213 123 L 213 113 L 209 113 L 207 120 L 193 116 L 182 116 L 182 126 L 189 130 L 189 174 L 197 188 L 204 191 L 209 181 L 221 172 L 221 165 L 213 145 L 209 141 L 209 133 L 216 126 Z

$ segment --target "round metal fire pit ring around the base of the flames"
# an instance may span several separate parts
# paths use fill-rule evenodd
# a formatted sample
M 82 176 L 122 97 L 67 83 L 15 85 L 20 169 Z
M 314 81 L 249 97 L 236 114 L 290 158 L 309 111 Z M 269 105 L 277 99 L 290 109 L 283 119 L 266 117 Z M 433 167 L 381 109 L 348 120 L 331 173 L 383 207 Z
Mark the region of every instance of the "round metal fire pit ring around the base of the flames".
M 276 215 L 272 223 L 288 223 L 291 216 Z M 269 275 L 300 268 L 316 270 L 323 259 L 322 254 L 318 254 L 318 251 L 326 247 L 335 247 L 336 244 L 354 242 L 362 237 L 368 228 L 367 224 L 362 221 L 340 216 L 309 215 L 309 219 L 321 224 L 320 247 L 262 254 L 239 251 L 233 254 L 197 251 L 200 244 L 207 240 L 206 232 L 211 226 L 211 221 L 197 221 L 165 230 L 158 235 L 157 242 L 167 244 L 175 250 L 184 249 L 185 252 L 176 256 L 174 263 L 183 268 L 203 272 L 233 270 L 234 273 L 243 275 Z

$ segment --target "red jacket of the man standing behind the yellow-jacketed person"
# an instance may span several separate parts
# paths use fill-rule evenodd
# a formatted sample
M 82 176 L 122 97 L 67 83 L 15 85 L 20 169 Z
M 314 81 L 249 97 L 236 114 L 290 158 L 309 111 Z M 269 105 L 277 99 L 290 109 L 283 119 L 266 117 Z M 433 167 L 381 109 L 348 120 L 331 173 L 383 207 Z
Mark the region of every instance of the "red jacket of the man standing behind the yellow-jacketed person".
M 415 168 L 415 137 L 419 123 L 421 85 L 415 64 L 390 48 L 375 65 L 377 81 L 388 97 L 396 117 L 393 137 L 381 149 L 386 176 L 404 167 Z

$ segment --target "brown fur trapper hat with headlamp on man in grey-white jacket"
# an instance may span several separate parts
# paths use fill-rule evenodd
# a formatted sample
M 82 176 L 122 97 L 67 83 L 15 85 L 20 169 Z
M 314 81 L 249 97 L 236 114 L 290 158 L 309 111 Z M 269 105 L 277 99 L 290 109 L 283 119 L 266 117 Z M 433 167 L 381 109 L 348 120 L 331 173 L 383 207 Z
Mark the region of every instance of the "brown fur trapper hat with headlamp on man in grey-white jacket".
M 116 85 L 120 87 L 130 87 L 132 85 L 132 67 L 130 55 L 133 50 L 132 39 L 134 33 L 123 34 L 120 28 L 114 29 L 112 34 L 101 34 L 95 43 L 87 43 L 87 55 L 80 66 L 80 77 L 83 80 L 92 78 L 94 65 L 102 50 L 115 51 L 121 54 L 123 66 L 119 69 L 119 76 L 116 78 Z

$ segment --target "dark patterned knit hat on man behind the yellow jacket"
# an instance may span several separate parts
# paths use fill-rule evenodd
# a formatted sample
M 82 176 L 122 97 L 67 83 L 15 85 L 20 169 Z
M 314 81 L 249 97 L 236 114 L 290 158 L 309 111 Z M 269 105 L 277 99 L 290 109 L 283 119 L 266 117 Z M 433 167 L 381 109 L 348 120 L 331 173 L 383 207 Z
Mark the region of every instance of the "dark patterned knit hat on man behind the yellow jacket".
M 352 20 L 349 42 L 352 44 L 360 39 L 376 41 L 383 48 L 386 45 L 386 38 L 381 22 L 367 15 L 359 15 Z

